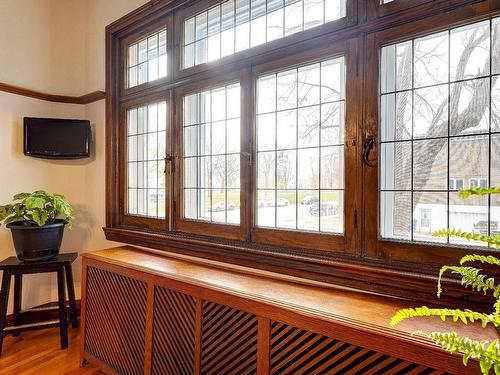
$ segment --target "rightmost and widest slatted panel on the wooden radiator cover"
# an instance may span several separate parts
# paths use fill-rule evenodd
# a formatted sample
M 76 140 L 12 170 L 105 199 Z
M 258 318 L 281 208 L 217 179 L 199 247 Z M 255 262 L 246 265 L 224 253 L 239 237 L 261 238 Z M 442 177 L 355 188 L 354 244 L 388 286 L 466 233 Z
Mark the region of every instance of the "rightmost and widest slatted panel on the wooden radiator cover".
M 271 374 L 442 375 L 427 367 L 272 322 Z

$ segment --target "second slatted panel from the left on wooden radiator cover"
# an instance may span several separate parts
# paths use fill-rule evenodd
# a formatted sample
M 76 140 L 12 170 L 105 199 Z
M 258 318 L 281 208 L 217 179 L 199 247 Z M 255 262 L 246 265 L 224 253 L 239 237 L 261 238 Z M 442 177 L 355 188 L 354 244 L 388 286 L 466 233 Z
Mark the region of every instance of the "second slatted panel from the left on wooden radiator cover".
M 170 289 L 155 288 L 153 353 L 155 375 L 192 375 L 196 301 Z

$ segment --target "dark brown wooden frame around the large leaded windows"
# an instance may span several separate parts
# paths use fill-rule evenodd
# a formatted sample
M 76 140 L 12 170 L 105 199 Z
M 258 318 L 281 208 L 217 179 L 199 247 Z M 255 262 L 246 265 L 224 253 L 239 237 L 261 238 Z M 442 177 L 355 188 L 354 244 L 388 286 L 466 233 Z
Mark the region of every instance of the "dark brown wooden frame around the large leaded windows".
M 471 304 L 483 303 L 482 296 L 466 294 L 464 297 L 467 291 L 464 291 L 460 283 L 453 279 L 443 281 L 446 283 L 448 295 L 440 300 L 434 298 L 439 266 L 447 262 L 456 262 L 462 254 L 471 252 L 475 248 L 413 245 L 391 241 L 382 243 L 378 240 L 378 174 L 374 173 L 375 168 L 362 165 L 361 159 L 363 141 L 367 136 L 376 134 L 377 131 L 378 78 L 373 78 L 378 77 L 376 42 L 380 41 L 383 35 L 385 35 L 386 43 L 389 43 L 389 41 L 409 39 L 410 36 L 416 36 L 413 34 L 420 32 L 429 33 L 439 22 L 449 27 L 498 15 L 500 14 L 500 0 L 435 0 L 434 6 L 425 3 L 383 17 L 370 12 L 368 5 L 372 0 L 348 0 L 348 7 L 353 11 L 347 21 L 339 20 L 343 22 L 342 25 L 342 22 L 334 21 L 225 57 L 214 63 L 186 69 L 180 74 L 179 15 L 194 4 L 207 4 L 209 1 L 212 0 L 152 1 L 106 28 L 106 226 L 104 228 L 106 238 L 285 273 L 300 278 L 342 284 L 375 293 L 427 302 L 432 299 L 432 302 L 436 304 L 454 303 L 460 306 L 461 302 L 465 301 L 462 306 L 470 308 Z M 168 79 L 125 90 L 122 75 L 124 41 L 128 38 L 133 39 L 134 35 L 140 37 L 141 30 L 145 28 L 159 28 L 165 23 L 170 25 L 167 26 L 167 46 L 171 74 L 169 71 Z M 171 29 L 169 30 L 168 27 Z M 399 32 L 395 32 L 396 29 Z M 359 187 L 358 207 L 357 212 L 354 211 L 354 217 L 357 216 L 357 233 L 354 239 L 349 240 L 350 243 L 346 245 L 348 251 L 332 252 L 311 249 L 311 247 L 307 248 L 308 244 L 291 243 L 287 236 L 282 236 L 281 241 L 275 242 L 281 245 L 258 243 L 252 238 L 251 214 L 247 217 L 248 231 L 245 238 L 240 236 L 237 237 L 238 239 L 231 239 L 217 237 L 212 233 L 203 235 L 179 232 L 175 226 L 174 215 L 178 211 L 174 205 L 174 197 L 177 197 L 179 192 L 175 191 L 171 180 L 167 184 L 170 189 L 174 190 L 170 191 L 170 194 L 167 192 L 171 210 L 167 213 L 165 227 L 158 229 L 141 221 L 127 223 L 122 221 L 120 214 L 122 177 L 120 177 L 119 165 L 123 154 L 120 147 L 123 146 L 120 146 L 119 124 L 124 103 L 140 100 L 141 97 L 147 95 L 167 95 L 166 93 L 169 92 L 171 95 L 171 100 L 168 102 L 169 124 L 172 131 L 175 131 L 178 126 L 174 117 L 177 103 L 173 90 L 192 82 L 211 79 L 215 76 L 221 77 L 226 73 L 234 73 L 243 69 L 247 69 L 248 84 L 252 85 L 251 78 L 254 75 L 252 68 L 255 66 L 282 59 L 284 56 L 300 56 L 316 48 L 327 48 L 336 43 L 347 43 L 347 41 L 353 46 L 356 45 L 358 49 L 356 73 L 359 77 L 359 108 L 356 116 L 359 134 L 357 139 L 351 140 L 351 145 L 356 149 L 353 155 L 356 155 L 360 163 L 356 182 Z M 250 108 L 252 108 L 251 104 Z M 249 119 L 253 121 L 252 116 Z M 173 134 L 170 140 L 174 140 L 175 136 Z M 172 151 L 175 151 L 174 146 L 171 145 Z M 250 146 L 253 147 L 253 145 Z M 251 150 L 253 152 L 253 148 Z M 371 159 L 378 158 L 376 153 L 377 144 L 375 144 Z M 178 164 L 178 156 L 177 154 L 176 162 L 169 166 L 172 168 L 169 178 L 175 178 L 174 174 L 177 172 L 173 168 Z M 253 198 L 252 194 L 253 192 L 248 192 L 248 201 Z M 372 198 L 375 200 L 373 201 Z M 346 210 L 348 209 L 350 208 L 346 207 Z M 250 212 L 250 209 L 247 211 Z M 347 223 L 348 220 L 346 220 L 346 225 Z M 302 245 L 305 248 L 301 247 Z M 354 246 L 356 250 L 353 252 L 351 249 Z

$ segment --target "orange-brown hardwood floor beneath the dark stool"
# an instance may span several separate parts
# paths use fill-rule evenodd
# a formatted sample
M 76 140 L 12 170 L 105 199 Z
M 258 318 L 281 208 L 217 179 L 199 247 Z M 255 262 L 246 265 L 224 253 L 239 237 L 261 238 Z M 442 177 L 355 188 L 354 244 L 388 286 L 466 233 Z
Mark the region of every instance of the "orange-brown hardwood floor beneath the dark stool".
M 0 375 L 103 374 L 95 367 L 79 366 L 79 331 L 69 328 L 69 347 L 59 348 L 59 330 L 45 329 L 8 336 L 3 342 Z

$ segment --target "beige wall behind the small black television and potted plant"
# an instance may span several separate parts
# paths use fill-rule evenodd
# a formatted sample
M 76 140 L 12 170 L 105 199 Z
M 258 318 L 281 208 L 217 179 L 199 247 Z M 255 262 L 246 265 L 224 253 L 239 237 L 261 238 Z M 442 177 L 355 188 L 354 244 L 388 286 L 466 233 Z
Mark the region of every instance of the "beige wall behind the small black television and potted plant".
M 105 26 L 144 0 L 0 1 L 0 82 L 63 95 L 105 88 Z M 76 209 L 63 252 L 85 252 L 111 244 L 104 239 L 104 101 L 87 106 L 54 104 L 0 92 L 0 204 L 20 191 L 46 189 L 64 194 Z M 94 129 L 92 158 L 47 161 L 22 150 L 25 116 L 89 119 Z M 10 232 L 0 228 L 0 259 L 14 255 Z M 75 284 L 79 297 L 80 262 Z M 56 299 L 50 275 L 26 279 L 24 307 Z M 9 306 L 11 311 L 11 306 Z

